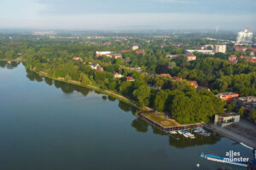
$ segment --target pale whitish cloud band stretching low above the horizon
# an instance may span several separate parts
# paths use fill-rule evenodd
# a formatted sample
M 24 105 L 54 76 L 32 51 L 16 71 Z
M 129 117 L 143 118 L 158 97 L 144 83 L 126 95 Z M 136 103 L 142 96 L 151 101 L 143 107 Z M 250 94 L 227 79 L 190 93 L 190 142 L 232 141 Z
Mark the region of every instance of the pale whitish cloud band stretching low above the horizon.
M 68 14 L 65 16 L 41 16 L 32 20 L 13 22 L 5 20 L 9 27 L 38 29 L 104 30 L 119 28 L 184 28 L 184 29 L 240 29 L 243 26 L 256 27 L 253 17 L 245 15 L 218 14 Z M 3 20 L 0 18 L 0 20 Z

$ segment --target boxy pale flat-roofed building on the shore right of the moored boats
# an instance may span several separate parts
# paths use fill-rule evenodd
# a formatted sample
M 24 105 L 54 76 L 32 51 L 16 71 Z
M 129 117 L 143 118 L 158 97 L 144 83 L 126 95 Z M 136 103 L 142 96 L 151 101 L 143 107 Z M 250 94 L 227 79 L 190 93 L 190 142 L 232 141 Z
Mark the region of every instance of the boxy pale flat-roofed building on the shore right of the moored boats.
M 234 122 L 239 122 L 240 116 L 236 113 L 224 113 L 215 115 L 214 125 L 218 125 L 220 127 L 226 127 Z

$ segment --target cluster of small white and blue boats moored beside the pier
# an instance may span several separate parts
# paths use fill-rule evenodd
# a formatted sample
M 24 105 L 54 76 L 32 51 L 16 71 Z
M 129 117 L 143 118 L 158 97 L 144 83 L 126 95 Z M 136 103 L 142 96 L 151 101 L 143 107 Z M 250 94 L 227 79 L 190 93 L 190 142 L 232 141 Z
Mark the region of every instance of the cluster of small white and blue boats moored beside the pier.
M 191 133 L 189 133 L 188 130 L 184 130 L 184 129 L 181 129 L 181 130 L 172 130 L 172 131 L 169 131 L 168 133 L 170 134 L 182 134 L 185 138 L 189 138 L 189 139 L 195 139 L 195 134 L 193 133 L 198 133 L 198 134 L 201 134 L 203 136 L 210 136 L 211 133 L 208 133 L 205 129 L 203 129 L 202 127 L 196 127 L 196 128 L 192 128 L 191 129 Z

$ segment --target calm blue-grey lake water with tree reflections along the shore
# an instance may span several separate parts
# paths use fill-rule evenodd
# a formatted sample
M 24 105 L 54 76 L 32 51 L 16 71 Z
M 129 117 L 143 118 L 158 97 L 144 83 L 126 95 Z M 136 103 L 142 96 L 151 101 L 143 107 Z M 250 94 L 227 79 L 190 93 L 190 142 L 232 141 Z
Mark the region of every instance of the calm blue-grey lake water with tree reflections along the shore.
M 172 139 L 134 112 L 93 90 L 0 62 L 0 169 L 246 169 L 207 161 L 200 154 L 224 156 L 235 150 L 253 156 L 217 134 Z

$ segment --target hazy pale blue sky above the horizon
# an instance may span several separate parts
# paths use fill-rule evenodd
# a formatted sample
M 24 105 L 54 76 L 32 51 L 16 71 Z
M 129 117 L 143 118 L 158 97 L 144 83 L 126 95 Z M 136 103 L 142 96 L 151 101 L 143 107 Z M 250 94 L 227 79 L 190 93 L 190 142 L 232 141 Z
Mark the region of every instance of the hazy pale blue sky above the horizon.
M 0 28 L 256 29 L 256 0 L 0 0 Z

